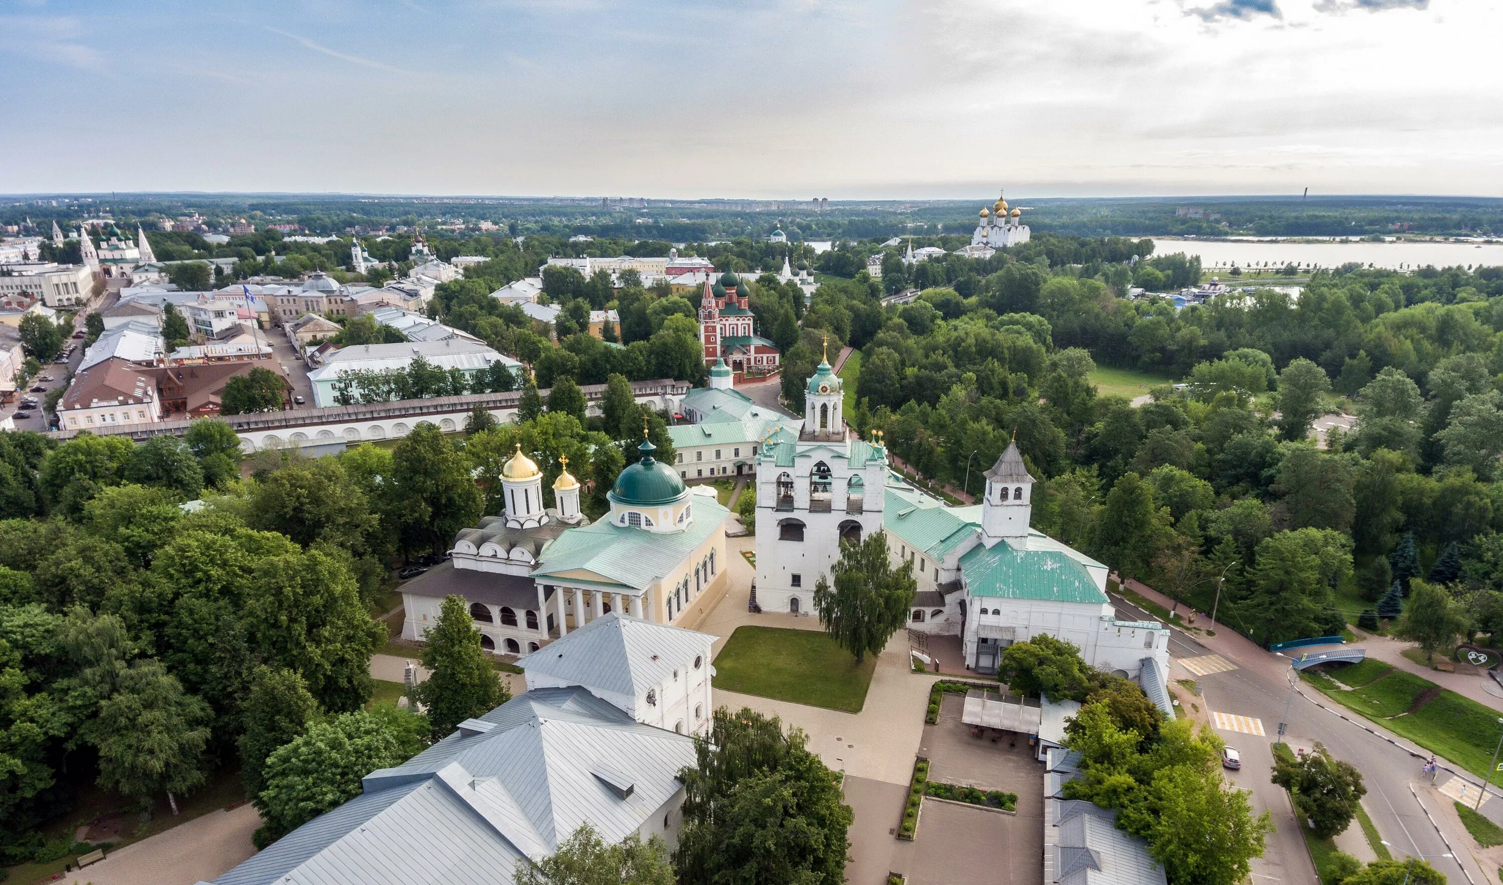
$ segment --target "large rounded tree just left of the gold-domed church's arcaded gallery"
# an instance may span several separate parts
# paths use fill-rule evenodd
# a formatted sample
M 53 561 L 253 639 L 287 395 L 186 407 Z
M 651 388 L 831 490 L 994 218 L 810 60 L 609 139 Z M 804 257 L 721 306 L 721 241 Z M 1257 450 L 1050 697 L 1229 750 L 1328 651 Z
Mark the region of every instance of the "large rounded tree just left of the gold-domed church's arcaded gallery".
M 245 587 L 245 624 L 263 663 L 296 670 L 332 712 L 370 700 L 370 660 L 386 628 L 365 613 L 355 575 L 308 550 L 256 563 Z

